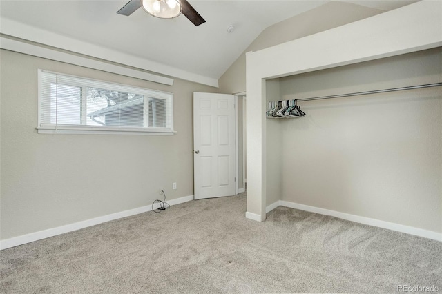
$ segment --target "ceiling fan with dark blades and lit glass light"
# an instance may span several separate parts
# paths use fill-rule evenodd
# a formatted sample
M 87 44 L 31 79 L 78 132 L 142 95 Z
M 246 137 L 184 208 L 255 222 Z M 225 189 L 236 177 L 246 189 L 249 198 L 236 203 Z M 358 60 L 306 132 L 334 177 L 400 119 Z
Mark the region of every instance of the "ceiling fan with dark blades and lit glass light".
M 140 7 L 148 14 L 162 19 L 171 19 L 182 13 L 195 26 L 206 22 L 187 0 L 131 0 L 117 13 L 127 17 Z

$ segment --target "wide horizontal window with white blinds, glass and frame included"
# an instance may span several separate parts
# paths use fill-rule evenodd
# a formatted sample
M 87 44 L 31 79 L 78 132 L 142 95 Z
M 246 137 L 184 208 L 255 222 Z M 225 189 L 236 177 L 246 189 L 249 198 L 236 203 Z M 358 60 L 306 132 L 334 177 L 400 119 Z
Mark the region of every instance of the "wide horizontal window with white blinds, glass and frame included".
M 173 133 L 173 94 L 39 70 L 39 133 Z

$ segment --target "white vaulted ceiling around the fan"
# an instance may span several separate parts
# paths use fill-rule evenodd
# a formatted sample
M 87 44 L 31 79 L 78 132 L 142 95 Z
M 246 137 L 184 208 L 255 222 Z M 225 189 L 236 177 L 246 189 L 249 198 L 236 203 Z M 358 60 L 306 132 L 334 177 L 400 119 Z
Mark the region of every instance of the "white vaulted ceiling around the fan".
M 0 31 L 95 57 L 99 57 L 100 50 L 113 52 L 113 55 L 121 53 L 137 61 L 146 61 L 140 63 L 140 68 L 165 75 L 173 75 L 171 69 L 175 69 L 181 74 L 218 79 L 262 30 L 329 2 L 189 0 L 206 19 L 206 23 L 195 27 L 184 15 L 176 19 L 158 19 L 141 8 L 129 17 L 117 14 L 127 1 L 1 0 Z M 414 1 L 346 2 L 387 11 Z M 231 34 L 227 32 L 230 25 L 235 26 Z M 35 29 L 32 33 L 30 27 Z M 65 40 L 66 45 L 60 45 L 57 39 Z M 88 51 L 85 43 L 92 44 L 94 50 Z M 112 60 L 104 53 L 103 56 Z M 155 66 L 149 68 L 146 64 L 151 61 Z M 164 70 L 159 69 L 162 66 Z

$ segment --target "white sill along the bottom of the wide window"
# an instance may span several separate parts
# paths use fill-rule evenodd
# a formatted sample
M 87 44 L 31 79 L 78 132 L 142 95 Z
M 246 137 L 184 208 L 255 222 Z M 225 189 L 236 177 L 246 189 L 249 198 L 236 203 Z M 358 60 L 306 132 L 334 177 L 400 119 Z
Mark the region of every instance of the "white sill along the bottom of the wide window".
M 94 126 L 58 126 L 54 127 L 37 127 L 39 134 L 74 134 L 74 135 L 157 135 L 171 136 L 174 130 L 164 130 L 162 128 L 103 128 Z

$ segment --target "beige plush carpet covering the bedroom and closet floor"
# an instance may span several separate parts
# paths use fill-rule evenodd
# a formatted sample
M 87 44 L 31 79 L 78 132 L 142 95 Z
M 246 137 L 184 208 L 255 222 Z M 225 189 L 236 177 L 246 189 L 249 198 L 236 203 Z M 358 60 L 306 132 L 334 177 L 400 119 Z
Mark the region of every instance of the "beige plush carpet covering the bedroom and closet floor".
M 442 293 L 442 242 L 245 195 L 143 213 L 0 252 L 1 293 Z M 422 288 L 421 288 L 422 289 Z

